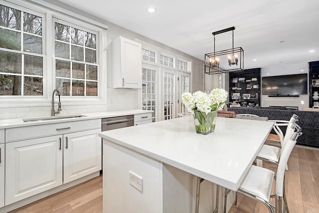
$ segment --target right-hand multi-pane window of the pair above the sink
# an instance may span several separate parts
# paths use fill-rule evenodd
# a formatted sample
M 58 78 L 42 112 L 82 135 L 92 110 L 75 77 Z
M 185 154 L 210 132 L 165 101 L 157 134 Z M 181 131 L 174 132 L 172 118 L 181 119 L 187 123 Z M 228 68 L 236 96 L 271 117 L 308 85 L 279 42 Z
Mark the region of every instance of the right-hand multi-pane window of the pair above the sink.
M 65 96 L 97 96 L 96 34 L 60 22 L 54 22 L 56 88 Z

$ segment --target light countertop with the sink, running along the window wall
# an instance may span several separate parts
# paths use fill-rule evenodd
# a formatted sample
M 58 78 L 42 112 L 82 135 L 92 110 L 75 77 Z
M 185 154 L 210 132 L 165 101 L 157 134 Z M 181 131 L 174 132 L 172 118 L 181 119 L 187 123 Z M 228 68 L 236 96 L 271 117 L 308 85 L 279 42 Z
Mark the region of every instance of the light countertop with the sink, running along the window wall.
M 119 111 L 107 111 L 107 112 L 80 113 L 76 115 L 83 115 L 84 117 L 45 120 L 45 121 L 32 121 L 32 122 L 23 122 L 23 119 L 32 119 L 32 118 L 2 119 L 0 120 L 0 129 L 23 127 L 23 126 L 34 126 L 34 125 L 42 125 L 42 124 L 63 123 L 63 122 L 70 122 L 70 121 L 91 120 L 91 119 L 99 119 L 99 118 L 110 118 L 110 117 L 117 117 L 117 116 L 124 116 L 124 115 L 142 114 L 147 112 L 152 112 L 152 111 L 132 109 L 132 110 L 119 110 Z M 71 115 L 56 115 L 54 117 L 59 117 L 59 116 L 63 117 L 63 116 L 71 116 Z M 51 118 L 51 116 L 37 117 L 37 118 Z

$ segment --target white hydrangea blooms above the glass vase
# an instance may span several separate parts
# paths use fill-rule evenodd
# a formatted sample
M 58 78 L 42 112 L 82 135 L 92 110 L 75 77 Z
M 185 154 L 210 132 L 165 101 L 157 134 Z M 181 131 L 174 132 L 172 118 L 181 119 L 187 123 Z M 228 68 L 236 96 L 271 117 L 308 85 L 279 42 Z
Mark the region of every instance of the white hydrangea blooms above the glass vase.
M 213 89 L 210 94 L 202 91 L 184 92 L 181 95 L 182 101 L 189 112 L 204 112 L 206 115 L 211 111 L 222 108 L 227 100 L 228 92 L 224 89 Z

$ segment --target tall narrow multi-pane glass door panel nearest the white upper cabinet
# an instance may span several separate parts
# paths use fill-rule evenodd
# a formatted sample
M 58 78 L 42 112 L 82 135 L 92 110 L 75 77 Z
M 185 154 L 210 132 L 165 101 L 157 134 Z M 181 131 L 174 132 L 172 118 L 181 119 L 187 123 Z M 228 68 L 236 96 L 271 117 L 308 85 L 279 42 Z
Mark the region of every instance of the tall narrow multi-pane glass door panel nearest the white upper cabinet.
M 142 109 L 153 110 L 152 120 L 156 121 L 156 70 L 142 69 Z

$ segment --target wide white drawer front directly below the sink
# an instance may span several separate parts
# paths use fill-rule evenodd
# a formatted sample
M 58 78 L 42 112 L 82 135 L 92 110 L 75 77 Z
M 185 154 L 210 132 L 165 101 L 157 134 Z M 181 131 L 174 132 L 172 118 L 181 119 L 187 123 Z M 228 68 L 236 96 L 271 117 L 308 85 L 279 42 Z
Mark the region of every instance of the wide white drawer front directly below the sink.
M 101 119 L 10 128 L 5 130 L 5 142 L 8 143 L 99 128 L 101 128 Z

